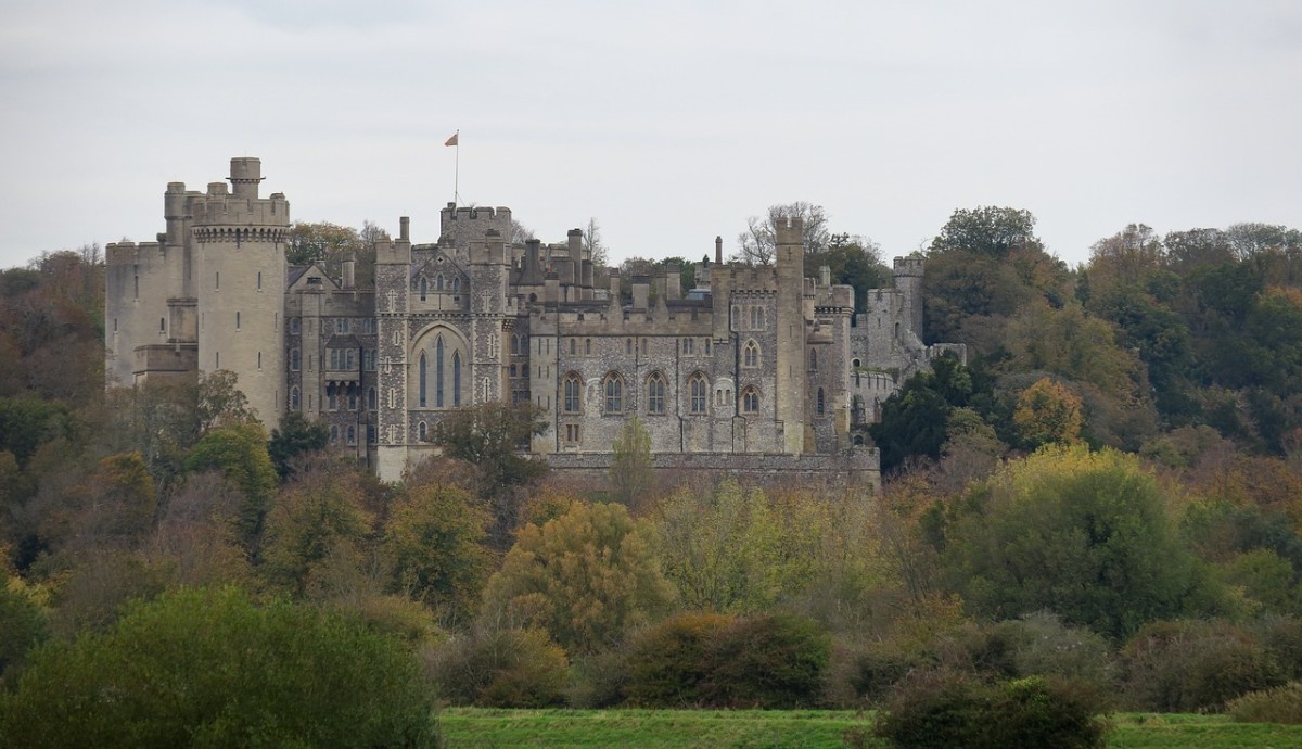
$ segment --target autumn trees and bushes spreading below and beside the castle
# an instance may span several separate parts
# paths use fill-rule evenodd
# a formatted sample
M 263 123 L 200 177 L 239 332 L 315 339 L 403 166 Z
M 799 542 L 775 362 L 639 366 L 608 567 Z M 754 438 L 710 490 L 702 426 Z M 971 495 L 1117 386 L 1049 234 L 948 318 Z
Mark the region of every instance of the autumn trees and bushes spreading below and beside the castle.
M 1118 707 L 1297 720 L 1294 234 L 1197 264 L 1137 227 L 1072 270 L 1029 221 L 960 211 L 937 237 L 927 315 L 973 356 L 885 404 L 875 495 L 658 485 L 635 421 L 607 481 L 562 481 L 514 452 L 539 414 L 492 404 L 381 485 L 294 414 L 266 434 L 224 373 L 104 392 L 94 255 L 5 271 L 0 736 L 284 742 L 344 731 L 320 716 L 350 683 L 376 696 L 346 713 L 370 744 L 435 741 L 435 700 L 884 706 L 900 745 L 973 705 L 1049 705 L 1091 741 Z M 186 693 L 208 709 L 151 713 L 164 675 L 208 672 L 228 681 Z M 332 686 L 275 701 L 303 673 Z M 87 713 L 105 690 L 132 697 Z

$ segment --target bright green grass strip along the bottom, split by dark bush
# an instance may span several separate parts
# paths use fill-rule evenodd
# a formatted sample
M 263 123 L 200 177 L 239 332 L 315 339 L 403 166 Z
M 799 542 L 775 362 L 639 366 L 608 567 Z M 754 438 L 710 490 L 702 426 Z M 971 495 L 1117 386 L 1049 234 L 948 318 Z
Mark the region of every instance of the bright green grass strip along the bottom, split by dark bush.
M 450 749 L 492 746 L 885 746 L 863 744 L 871 716 L 831 710 L 480 710 L 441 714 Z M 1302 746 L 1302 726 L 1230 723 L 1220 715 L 1122 714 L 1109 748 L 1285 749 Z

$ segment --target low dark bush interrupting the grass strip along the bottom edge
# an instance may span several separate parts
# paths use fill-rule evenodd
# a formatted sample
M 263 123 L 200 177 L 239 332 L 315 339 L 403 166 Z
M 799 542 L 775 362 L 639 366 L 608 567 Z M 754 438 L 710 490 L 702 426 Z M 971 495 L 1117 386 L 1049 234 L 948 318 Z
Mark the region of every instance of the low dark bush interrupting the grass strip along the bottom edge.
M 874 732 L 900 749 L 1104 745 L 1100 694 L 1078 683 L 1032 676 L 987 684 L 952 671 L 914 672 L 893 692 Z

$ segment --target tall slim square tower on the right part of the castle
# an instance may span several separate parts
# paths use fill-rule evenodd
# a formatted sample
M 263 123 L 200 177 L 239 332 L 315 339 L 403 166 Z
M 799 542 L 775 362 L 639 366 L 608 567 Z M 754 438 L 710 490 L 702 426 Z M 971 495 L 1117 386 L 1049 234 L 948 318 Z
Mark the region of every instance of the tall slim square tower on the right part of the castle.
M 777 403 L 783 452 L 805 451 L 805 221 L 777 220 Z

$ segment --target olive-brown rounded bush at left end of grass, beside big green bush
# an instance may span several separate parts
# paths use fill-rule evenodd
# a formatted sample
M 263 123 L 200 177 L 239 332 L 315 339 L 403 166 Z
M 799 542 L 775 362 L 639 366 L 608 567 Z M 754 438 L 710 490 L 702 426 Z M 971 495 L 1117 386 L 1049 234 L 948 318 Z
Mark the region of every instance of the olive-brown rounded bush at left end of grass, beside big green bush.
M 434 651 L 431 676 L 452 705 L 551 707 L 565 703 L 565 651 L 538 629 L 475 633 Z

